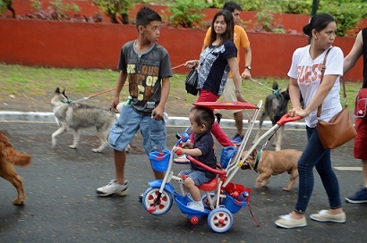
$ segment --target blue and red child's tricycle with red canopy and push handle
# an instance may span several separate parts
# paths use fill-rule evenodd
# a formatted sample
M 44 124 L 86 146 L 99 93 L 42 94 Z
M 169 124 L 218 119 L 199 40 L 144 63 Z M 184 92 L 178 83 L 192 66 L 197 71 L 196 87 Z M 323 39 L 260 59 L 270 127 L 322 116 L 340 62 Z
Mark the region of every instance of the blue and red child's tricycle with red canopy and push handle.
M 246 155 L 243 155 L 253 125 L 260 113 L 262 101 L 260 101 L 258 105 L 241 102 L 198 102 L 194 105 L 209 106 L 213 109 L 253 110 L 252 116 L 249 117 L 248 129 L 244 134 L 243 142 L 239 147 L 223 148 L 217 169 L 209 168 L 205 164 L 192 158 L 192 156 L 187 156 L 192 163 L 196 163 L 210 172 L 218 174 L 216 178 L 199 187 L 199 189 L 204 192 L 202 196 L 205 206 L 204 211 L 192 210 L 186 206 L 187 203 L 190 202 L 190 199 L 185 196 L 183 179 L 175 176 L 174 172 L 171 171 L 174 158 L 173 149 L 171 151 L 163 150 L 150 153 L 149 159 L 151 160 L 153 168 L 159 172 L 166 172 L 166 174 L 163 180 L 149 181 L 149 189 L 143 194 L 142 204 L 149 214 L 161 215 L 166 214 L 166 212 L 170 210 L 173 205 L 173 199 L 175 198 L 178 208 L 183 214 L 188 215 L 192 224 L 198 223 L 203 216 L 208 216 L 208 224 L 211 230 L 219 233 L 226 232 L 234 223 L 233 214 L 236 214 L 243 206 L 248 204 L 251 193 L 251 189 L 244 188 L 241 184 L 231 182 L 235 173 L 241 168 L 243 162 L 260 143 L 261 139 L 267 137 L 269 133 L 277 130 L 286 122 L 295 121 L 300 118 L 289 118 L 285 115 L 275 126 L 255 141 Z M 178 136 L 178 141 L 175 146 L 180 145 L 189 138 L 189 130 L 189 128 L 186 129 L 183 134 Z M 179 191 L 176 191 L 171 184 L 173 181 L 178 183 Z

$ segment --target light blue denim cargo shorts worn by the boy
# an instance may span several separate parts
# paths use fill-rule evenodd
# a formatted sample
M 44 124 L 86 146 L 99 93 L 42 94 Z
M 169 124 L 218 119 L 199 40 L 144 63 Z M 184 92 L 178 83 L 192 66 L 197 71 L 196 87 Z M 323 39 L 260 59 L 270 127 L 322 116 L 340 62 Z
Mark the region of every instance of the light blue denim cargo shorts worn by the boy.
M 115 150 L 123 151 L 138 130 L 141 130 L 145 153 L 166 149 L 166 122 L 136 113 L 131 105 L 121 109 L 120 117 L 109 132 L 108 143 Z

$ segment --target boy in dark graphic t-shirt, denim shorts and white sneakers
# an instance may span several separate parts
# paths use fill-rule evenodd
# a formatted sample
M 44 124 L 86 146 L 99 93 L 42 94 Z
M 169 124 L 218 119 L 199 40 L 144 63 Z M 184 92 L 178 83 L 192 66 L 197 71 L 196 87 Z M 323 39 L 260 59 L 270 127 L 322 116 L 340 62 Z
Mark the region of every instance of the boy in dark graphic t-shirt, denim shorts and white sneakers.
M 127 194 L 129 186 L 124 177 L 125 148 L 138 130 L 141 130 L 147 154 L 166 149 L 166 122 L 163 113 L 172 70 L 169 54 L 157 43 L 161 22 L 158 13 L 142 7 L 136 16 L 139 37 L 124 44 L 121 50 L 118 63 L 120 73 L 111 109 L 118 112 L 116 105 L 126 80 L 132 102 L 123 106 L 118 121 L 110 130 L 108 142 L 114 148 L 115 179 L 107 186 L 98 188 L 98 196 Z M 163 172 L 153 172 L 156 179 L 164 178 Z

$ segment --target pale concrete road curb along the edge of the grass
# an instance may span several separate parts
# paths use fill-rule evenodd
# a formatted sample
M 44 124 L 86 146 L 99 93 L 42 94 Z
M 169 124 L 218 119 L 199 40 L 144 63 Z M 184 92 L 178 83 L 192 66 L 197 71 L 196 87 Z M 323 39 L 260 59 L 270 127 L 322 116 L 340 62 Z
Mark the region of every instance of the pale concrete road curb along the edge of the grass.
M 119 115 L 119 114 L 117 114 Z M 38 122 L 55 122 L 54 113 L 35 113 L 35 112 L 13 112 L 2 111 L 0 112 L 0 121 L 38 121 Z M 244 121 L 246 122 L 246 121 Z M 259 121 L 255 121 L 258 124 Z M 189 119 L 187 117 L 171 116 L 167 121 L 167 126 L 186 127 L 188 126 Z M 223 128 L 235 128 L 235 120 L 222 119 L 220 120 L 220 126 Z M 271 128 L 270 121 L 264 121 L 262 123 L 264 129 Z M 285 128 L 291 129 L 304 129 L 304 122 L 287 122 Z

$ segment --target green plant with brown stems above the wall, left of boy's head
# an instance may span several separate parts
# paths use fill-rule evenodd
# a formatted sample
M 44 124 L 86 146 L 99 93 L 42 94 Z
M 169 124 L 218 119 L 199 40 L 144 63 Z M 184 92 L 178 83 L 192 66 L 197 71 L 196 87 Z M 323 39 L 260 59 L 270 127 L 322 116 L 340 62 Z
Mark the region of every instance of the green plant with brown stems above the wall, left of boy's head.
M 93 4 L 99 6 L 110 18 L 112 23 L 119 23 L 120 19 L 124 24 L 129 23 L 127 14 L 134 6 L 132 0 L 91 0 Z

